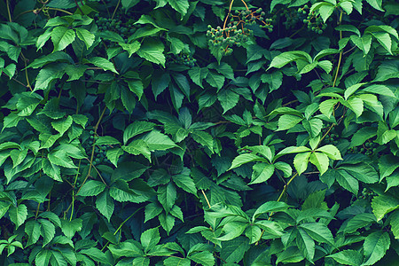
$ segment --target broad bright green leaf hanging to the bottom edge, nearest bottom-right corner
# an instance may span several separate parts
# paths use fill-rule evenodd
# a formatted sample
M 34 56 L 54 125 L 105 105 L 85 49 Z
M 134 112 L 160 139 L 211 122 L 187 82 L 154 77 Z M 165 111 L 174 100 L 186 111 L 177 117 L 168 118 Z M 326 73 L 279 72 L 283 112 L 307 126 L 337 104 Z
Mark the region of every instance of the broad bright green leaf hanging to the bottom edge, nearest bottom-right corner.
M 386 231 L 375 231 L 364 239 L 364 260 L 362 265 L 375 265 L 387 252 L 390 246 L 389 235 Z

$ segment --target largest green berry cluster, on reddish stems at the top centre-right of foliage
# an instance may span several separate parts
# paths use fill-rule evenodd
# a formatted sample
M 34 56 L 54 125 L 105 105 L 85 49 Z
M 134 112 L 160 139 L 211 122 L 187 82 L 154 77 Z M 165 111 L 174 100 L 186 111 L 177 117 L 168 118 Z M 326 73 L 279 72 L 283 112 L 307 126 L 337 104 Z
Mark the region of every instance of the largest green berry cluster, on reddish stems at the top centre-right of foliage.
M 241 46 L 242 43 L 248 41 L 248 37 L 253 35 L 252 29 L 247 28 L 248 25 L 254 25 L 259 22 L 260 27 L 267 28 L 269 32 L 273 30 L 273 25 L 271 25 L 271 19 L 265 18 L 266 13 L 262 12 L 262 8 L 256 11 L 250 11 L 249 9 L 245 11 L 236 10 L 234 14 L 229 13 L 230 18 L 229 23 L 224 21 L 223 27 L 213 28 L 210 25 L 207 27 L 207 37 L 209 38 L 209 45 L 220 47 L 220 51 L 223 51 L 224 55 L 230 55 L 232 52 L 231 46 L 237 45 Z

